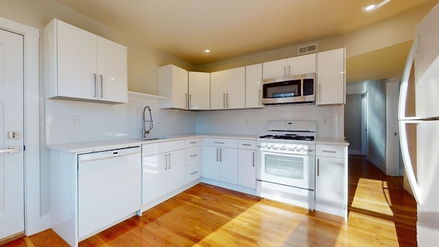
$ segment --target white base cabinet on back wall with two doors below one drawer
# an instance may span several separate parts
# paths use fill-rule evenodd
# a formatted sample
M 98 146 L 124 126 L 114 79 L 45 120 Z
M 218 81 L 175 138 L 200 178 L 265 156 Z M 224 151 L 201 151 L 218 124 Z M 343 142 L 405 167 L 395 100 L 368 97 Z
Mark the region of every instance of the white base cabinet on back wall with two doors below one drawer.
M 205 138 L 203 177 L 237 185 L 237 147 L 237 139 Z

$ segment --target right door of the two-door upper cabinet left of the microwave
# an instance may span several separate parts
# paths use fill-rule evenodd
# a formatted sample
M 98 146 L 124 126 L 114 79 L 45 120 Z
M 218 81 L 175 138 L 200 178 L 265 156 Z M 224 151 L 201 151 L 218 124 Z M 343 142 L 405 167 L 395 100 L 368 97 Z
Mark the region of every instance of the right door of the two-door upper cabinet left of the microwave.
M 246 108 L 246 67 L 227 70 L 226 108 Z

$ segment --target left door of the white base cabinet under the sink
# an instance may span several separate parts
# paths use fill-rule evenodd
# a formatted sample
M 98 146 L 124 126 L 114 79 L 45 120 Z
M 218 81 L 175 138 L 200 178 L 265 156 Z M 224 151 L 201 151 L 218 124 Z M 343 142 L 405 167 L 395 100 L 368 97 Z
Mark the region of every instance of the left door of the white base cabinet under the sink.
M 142 204 L 163 196 L 167 189 L 167 154 L 142 157 Z

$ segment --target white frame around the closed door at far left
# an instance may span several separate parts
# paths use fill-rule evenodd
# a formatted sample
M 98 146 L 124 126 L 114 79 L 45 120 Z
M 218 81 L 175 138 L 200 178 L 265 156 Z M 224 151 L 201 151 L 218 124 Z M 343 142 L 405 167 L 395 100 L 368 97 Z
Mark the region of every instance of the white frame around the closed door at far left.
M 34 27 L 0 16 L 0 28 L 23 35 L 24 40 L 24 178 L 25 235 L 50 228 L 50 215 L 40 216 L 40 95 L 39 41 L 40 32 Z M 36 124 L 37 123 L 37 124 Z

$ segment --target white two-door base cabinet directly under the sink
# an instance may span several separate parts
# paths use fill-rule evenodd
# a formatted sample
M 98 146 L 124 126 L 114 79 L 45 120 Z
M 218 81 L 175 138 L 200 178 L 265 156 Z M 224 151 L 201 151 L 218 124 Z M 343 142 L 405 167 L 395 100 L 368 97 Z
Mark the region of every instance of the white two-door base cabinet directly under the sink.
M 186 183 L 185 140 L 142 145 L 142 204 Z

